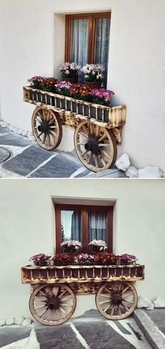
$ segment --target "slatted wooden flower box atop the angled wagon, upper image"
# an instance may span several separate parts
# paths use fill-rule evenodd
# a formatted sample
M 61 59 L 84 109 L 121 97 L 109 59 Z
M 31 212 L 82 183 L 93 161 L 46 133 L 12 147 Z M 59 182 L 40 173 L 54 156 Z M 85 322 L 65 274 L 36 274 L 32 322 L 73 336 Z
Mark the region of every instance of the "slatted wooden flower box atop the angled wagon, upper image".
M 58 95 L 57 93 L 37 90 L 29 86 L 24 86 L 23 94 L 24 102 L 44 106 L 58 113 L 66 113 L 75 118 L 82 118 L 82 120 L 93 118 L 106 128 L 117 128 L 124 125 L 126 121 L 125 105 L 106 107 L 101 104 L 75 100 L 72 97 Z M 65 124 L 68 125 L 66 121 Z

